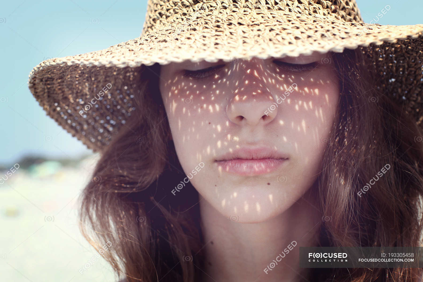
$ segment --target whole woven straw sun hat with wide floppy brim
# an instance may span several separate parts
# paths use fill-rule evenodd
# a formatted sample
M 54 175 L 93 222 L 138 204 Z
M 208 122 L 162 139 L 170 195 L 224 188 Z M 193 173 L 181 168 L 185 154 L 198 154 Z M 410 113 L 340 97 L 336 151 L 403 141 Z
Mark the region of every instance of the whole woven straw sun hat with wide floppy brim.
M 101 151 L 136 110 L 145 66 L 360 47 L 381 76 L 382 93 L 420 124 L 422 32 L 423 25 L 365 24 L 354 0 L 149 0 L 140 37 L 45 60 L 31 71 L 29 88 L 47 115 Z

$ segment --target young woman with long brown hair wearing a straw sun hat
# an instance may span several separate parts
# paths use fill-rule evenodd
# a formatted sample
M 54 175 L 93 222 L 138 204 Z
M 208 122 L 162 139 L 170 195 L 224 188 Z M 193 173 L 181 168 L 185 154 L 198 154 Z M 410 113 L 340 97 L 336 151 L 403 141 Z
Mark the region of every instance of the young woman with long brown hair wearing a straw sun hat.
M 351 0 L 151 0 L 140 38 L 34 69 L 102 154 L 81 231 L 119 279 L 417 281 L 299 266 L 300 246 L 421 245 L 423 26 L 360 22 Z

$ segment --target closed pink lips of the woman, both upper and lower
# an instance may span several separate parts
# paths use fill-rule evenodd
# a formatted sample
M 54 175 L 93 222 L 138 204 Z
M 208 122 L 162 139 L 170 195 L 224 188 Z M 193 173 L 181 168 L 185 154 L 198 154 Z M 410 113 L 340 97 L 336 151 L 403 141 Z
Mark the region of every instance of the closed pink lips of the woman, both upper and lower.
M 243 147 L 217 157 L 215 163 L 226 172 L 253 176 L 275 171 L 288 159 L 287 154 L 268 147 Z

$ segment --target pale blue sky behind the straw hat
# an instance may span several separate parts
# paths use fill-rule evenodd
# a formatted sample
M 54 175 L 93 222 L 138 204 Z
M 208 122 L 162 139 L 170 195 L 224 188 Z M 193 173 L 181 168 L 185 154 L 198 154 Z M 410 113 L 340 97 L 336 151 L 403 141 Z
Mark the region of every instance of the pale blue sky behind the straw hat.
M 139 37 L 146 3 L 146 0 L 2 3 L 0 165 L 28 154 L 76 159 L 91 153 L 45 114 L 27 87 L 28 75 L 48 58 L 100 50 Z M 423 23 L 421 0 L 357 0 L 357 4 L 364 22 L 374 19 L 381 25 Z M 377 14 L 387 5 L 389 11 L 378 19 Z

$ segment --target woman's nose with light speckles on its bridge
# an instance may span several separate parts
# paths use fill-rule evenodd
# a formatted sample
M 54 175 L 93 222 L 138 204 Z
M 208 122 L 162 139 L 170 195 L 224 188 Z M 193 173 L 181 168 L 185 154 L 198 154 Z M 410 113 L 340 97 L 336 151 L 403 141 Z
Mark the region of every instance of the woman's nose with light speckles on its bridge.
M 266 125 L 277 114 L 277 103 L 274 103 L 271 91 L 262 80 L 264 67 L 259 61 L 239 62 L 236 71 L 240 74 L 234 74 L 233 95 L 226 107 L 226 114 L 231 122 L 240 126 Z

